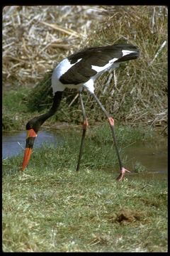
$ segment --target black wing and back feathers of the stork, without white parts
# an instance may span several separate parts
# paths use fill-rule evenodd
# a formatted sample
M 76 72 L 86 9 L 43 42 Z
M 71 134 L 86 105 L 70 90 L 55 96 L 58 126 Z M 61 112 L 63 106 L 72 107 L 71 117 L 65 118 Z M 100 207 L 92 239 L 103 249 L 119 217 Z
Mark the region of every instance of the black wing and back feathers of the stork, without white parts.
M 123 56 L 123 50 L 130 50 L 133 51 L 133 53 Z M 138 56 L 139 50 L 137 47 L 128 44 L 81 50 L 79 53 L 74 53 L 68 57 L 71 64 L 76 64 L 60 77 L 60 81 L 65 85 L 78 85 L 87 82 L 91 77 L 98 73 L 91 68 L 91 65 L 103 67 L 110 60 L 113 60 L 113 58 L 117 58 L 118 60 L 115 60 L 114 62 L 119 63 L 121 61 L 135 59 Z M 77 60 L 79 59 L 81 60 L 77 63 Z

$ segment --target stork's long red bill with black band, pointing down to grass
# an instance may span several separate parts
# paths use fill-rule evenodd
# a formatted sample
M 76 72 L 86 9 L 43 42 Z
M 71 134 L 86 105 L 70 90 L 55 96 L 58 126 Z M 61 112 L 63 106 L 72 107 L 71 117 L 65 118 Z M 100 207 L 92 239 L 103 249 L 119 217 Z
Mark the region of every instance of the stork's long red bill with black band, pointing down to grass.
M 23 156 L 23 165 L 22 165 L 22 171 L 26 168 L 26 166 L 28 165 L 28 162 L 30 161 L 30 156 L 33 152 L 33 144 L 34 144 L 34 140 L 35 137 L 37 137 L 36 132 L 34 131 L 34 129 L 29 129 L 27 130 L 28 136 L 26 139 L 26 150 Z

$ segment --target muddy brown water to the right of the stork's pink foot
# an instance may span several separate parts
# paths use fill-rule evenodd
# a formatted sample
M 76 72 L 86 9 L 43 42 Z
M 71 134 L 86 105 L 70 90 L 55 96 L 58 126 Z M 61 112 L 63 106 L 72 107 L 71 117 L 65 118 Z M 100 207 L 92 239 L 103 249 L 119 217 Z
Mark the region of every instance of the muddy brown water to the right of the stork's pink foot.
M 138 142 L 127 146 L 123 156 L 127 159 L 126 166 L 132 170 L 133 176 L 140 174 L 143 178 L 167 178 L 167 138 L 157 137 L 152 142 Z M 136 163 L 142 165 L 144 170 L 135 173 Z M 140 168 L 140 167 L 139 167 Z

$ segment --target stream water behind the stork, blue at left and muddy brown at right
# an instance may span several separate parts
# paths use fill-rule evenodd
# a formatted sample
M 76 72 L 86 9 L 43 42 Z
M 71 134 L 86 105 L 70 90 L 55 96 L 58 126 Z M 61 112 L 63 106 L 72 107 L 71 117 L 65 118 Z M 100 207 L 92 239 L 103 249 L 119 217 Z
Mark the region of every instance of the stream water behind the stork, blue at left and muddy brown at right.
M 63 138 L 56 132 L 40 131 L 35 139 L 35 147 L 40 147 L 43 143 L 59 146 L 63 142 Z M 17 154 L 22 154 L 25 149 L 26 132 L 16 132 L 15 134 L 6 133 L 2 138 L 2 158 L 6 159 Z M 126 167 L 130 170 L 135 169 L 138 163 L 145 166 L 146 171 L 140 171 L 140 176 L 144 178 L 157 174 L 158 176 L 167 176 L 167 139 L 157 137 L 152 142 L 138 142 L 126 146 L 123 149 L 124 158 L 127 159 Z M 132 176 L 139 176 L 134 171 Z

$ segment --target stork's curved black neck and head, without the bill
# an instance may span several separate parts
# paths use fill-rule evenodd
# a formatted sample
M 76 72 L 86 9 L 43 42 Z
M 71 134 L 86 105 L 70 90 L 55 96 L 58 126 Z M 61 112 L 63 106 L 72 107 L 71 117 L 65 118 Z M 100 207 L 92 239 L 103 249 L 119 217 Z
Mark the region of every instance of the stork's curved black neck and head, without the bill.
M 36 133 L 38 133 L 40 126 L 49 118 L 52 117 L 53 114 L 57 111 L 57 108 L 60 105 L 60 102 L 62 100 L 62 92 L 55 92 L 55 97 L 53 98 L 52 107 L 50 110 L 45 113 L 41 114 L 39 117 L 34 117 L 31 119 L 28 124 L 26 124 L 26 129 L 33 128 Z

